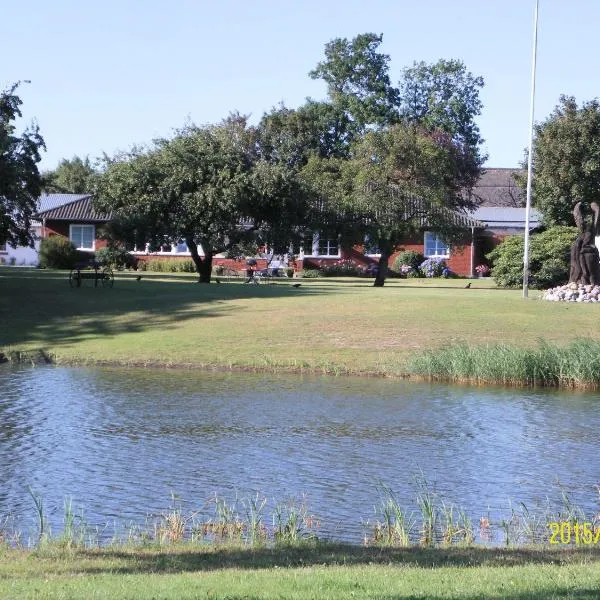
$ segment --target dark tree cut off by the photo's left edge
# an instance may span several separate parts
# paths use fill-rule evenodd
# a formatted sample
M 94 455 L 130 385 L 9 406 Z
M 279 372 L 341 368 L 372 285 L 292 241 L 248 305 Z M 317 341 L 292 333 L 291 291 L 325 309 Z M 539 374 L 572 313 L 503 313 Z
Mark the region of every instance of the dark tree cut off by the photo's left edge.
M 31 218 L 42 189 L 37 165 L 45 145 L 36 124 L 16 133 L 22 116 L 18 86 L 0 92 L 0 244 L 26 246 L 33 245 Z

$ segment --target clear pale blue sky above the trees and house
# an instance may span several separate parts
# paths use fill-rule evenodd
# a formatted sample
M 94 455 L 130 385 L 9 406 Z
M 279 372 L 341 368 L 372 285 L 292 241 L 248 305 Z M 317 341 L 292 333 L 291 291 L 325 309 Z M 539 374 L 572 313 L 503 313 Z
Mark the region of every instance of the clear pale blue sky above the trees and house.
M 485 87 L 487 167 L 529 141 L 535 0 L 20 0 L 5 2 L 0 89 L 18 88 L 42 170 L 114 155 L 233 111 L 252 123 L 283 102 L 326 98 L 308 76 L 333 38 L 383 34 L 394 85 L 415 61 L 459 59 Z M 539 0 L 535 121 L 561 94 L 600 95 L 599 0 Z M 8 50 L 10 49 L 10 51 Z

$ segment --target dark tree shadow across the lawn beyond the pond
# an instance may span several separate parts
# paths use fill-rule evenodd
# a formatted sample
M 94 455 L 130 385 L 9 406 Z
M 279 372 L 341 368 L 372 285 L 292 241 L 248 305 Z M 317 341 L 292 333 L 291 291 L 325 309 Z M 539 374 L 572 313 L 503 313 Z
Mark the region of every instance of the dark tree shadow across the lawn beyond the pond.
M 165 330 L 175 323 L 244 310 L 230 301 L 289 298 L 325 290 L 275 285 L 199 285 L 193 275 L 117 274 L 112 288 L 84 281 L 72 288 L 68 272 L 0 268 L 0 347 L 59 347 L 83 339 Z

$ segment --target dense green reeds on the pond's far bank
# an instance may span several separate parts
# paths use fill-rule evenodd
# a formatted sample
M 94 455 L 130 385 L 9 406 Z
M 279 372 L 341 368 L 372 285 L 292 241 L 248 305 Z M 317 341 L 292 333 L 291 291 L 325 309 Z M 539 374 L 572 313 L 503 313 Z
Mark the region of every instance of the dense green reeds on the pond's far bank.
M 567 346 L 539 341 L 535 348 L 462 342 L 419 353 L 408 370 L 435 381 L 597 389 L 600 341 L 577 339 Z

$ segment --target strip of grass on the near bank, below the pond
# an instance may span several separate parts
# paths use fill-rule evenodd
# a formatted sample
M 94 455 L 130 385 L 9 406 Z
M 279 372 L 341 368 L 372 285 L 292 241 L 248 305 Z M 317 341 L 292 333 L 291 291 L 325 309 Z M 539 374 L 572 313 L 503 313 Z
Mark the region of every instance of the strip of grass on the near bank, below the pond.
M 283 549 L 0 551 L 1 599 L 592 599 L 596 550 Z

